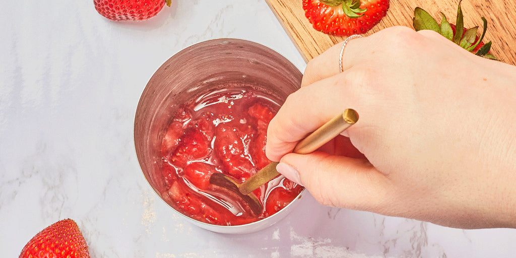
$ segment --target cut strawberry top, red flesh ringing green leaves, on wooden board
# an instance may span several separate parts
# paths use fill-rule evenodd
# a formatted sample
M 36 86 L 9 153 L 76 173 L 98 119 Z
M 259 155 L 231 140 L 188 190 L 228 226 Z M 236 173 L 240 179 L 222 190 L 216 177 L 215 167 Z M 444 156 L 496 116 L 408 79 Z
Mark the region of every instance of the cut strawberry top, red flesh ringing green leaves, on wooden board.
M 389 0 L 303 0 L 316 30 L 336 36 L 366 33 L 387 13 Z

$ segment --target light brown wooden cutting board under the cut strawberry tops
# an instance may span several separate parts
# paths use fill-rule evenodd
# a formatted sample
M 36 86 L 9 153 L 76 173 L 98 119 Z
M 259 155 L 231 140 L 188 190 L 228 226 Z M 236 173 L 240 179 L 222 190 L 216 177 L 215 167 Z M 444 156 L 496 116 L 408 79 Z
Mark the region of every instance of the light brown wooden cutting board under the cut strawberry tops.
M 307 62 L 345 39 L 315 30 L 304 16 L 301 0 L 267 0 L 267 3 Z M 391 0 L 387 15 L 364 36 L 396 25 L 412 28 L 415 7 L 425 9 L 438 22 L 441 21 L 440 12 L 443 12 L 449 22 L 455 23 L 458 3 L 458 0 Z M 491 53 L 506 63 L 516 65 L 516 1 L 463 0 L 461 8 L 466 28 L 479 26 L 481 31 L 481 17 L 487 19 L 488 28 L 483 42 L 492 41 Z

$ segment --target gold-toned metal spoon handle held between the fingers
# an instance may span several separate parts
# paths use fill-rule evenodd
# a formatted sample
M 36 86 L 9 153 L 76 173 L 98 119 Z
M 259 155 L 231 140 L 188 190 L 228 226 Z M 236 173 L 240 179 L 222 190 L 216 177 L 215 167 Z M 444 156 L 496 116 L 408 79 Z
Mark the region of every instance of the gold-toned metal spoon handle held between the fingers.
M 349 126 L 355 124 L 357 121 L 357 111 L 348 108 L 344 110 L 342 114 L 335 116 L 309 136 L 298 142 L 293 152 L 298 154 L 311 153 L 344 132 L 349 128 Z M 244 183 L 240 184 L 240 186 L 238 186 L 238 190 L 243 195 L 248 195 L 250 192 L 269 182 L 271 179 L 276 178 L 276 176 L 279 175 L 278 171 L 276 171 L 276 165 L 278 165 L 278 162 L 269 163 Z

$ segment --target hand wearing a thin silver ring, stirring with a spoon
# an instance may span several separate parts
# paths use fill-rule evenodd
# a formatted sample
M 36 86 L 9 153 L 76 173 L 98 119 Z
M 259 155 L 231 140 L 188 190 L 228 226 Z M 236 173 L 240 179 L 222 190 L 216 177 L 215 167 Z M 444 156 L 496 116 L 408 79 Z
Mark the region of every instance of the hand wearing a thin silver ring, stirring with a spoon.
M 278 171 L 328 206 L 516 228 L 516 67 L 391 27 L 349 41 L 340 72 L 341 45 L 308 63 L 270 122 L 266 154 Z M 346 108 L 355 125 L 319 151 L 291 153 Z

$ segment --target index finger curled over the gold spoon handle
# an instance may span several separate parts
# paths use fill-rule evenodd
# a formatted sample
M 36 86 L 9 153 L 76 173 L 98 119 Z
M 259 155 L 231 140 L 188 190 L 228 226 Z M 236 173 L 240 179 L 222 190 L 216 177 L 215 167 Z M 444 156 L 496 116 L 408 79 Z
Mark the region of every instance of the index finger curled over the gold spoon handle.
M 292 152 L 299 140 L 346 108 L 354 108 L 360 114 L 360 100 L 354 96 L 357 90 L 349 88 L 356 85 L 348 79 L 350 72 L 319 80 L 288 96 L 268 126 L 265 148 L 270 160 L 278 161 Z

